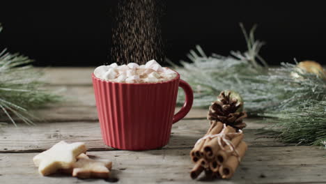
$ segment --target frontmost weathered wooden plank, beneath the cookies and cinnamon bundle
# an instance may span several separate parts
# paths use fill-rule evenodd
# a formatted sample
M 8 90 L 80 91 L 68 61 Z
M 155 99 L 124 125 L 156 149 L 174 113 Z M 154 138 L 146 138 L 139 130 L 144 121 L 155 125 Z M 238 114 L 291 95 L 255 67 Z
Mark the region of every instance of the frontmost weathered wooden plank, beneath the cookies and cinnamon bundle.
M 189 178 L 189 149 L 88 152 L 113 161 L 118 183 L 198 183 Z M 249 148 L 230 180 L 219 183 L 325 183 L 324 151 L 311 146 Z M 36 153 L 0 153 L 0 179 L 6 183 L 105 183 L 56 174 L 42 177 L 33 166 Z M 201 179 L 199 179 L 201 180 Z M 217 180 L 218 181 L 218 180 Z

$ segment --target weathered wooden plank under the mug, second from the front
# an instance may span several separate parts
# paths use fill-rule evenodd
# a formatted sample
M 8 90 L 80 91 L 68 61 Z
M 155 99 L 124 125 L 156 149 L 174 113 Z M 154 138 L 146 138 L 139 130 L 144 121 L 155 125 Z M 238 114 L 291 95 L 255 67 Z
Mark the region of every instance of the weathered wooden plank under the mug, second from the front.
M 248 123 L 259 128 L 261 124 Z M 209 128 L 206 120 L 183 120 L 172 128 L 169 144 L 164 148 L 191 148 L 197 139 Z M 249 146 L 284 146 L 272 138 L 257 139 L 258 130 L 247 129 L 245 140 Z M 95 122 L 39 123 L 37 126 L 7 125 L 0 129 L 0 152 L 43 151 L 60 140 L 84 141 L 91 150 L 111 150 L 105 146 L 100 134 L 100 126 Z

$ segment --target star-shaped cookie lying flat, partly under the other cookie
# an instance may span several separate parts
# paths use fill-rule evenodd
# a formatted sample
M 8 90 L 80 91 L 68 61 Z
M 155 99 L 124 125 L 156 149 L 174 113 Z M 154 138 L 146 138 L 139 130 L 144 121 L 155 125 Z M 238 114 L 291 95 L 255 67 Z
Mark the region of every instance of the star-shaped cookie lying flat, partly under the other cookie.
M 72 167 L 72 176 L 77 178 L 109 178 L 112 162 L 79 158 Z

